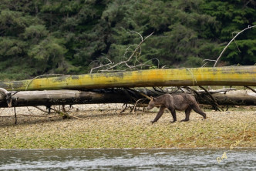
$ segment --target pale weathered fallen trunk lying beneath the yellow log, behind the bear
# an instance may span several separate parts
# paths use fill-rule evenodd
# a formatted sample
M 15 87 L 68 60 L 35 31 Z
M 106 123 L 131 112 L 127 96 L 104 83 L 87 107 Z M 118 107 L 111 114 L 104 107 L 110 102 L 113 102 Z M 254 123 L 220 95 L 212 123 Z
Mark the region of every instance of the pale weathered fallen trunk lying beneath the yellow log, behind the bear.
M 74 104 L 97 103 L 129 103 L 135 104 L 137 100 L 147 96 L 159 96 L 159 92 L 143 89 L 139 93 L 130 89 L 101 89 L 91 91 L 79 90 L 45 90 L 17 92 L 11 96 L 13 107 L 17 106 L 54 106 Z M 179 92 L 180 93 L 180 92 Z M 211 98 L 206 92 L 198 92 L 197 100 L 200 104 L 212 105 Z M 220 106 L 256 106 L 255 92 L 211 92 L 217 104 Z M 140 101 L 147 104 L 148 99 Z M 5 96 L 0 93 L 0 107 L 8 107 Z

